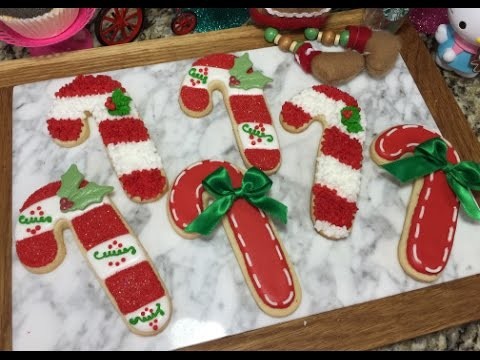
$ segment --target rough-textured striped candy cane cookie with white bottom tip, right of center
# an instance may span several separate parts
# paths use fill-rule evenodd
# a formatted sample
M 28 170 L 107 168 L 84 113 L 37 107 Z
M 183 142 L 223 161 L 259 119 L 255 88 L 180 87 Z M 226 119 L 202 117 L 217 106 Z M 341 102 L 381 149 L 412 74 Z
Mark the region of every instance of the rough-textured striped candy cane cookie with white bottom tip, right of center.
M 326 85 L 305 89 L 285 102 L 280 123 L 301 132 L 313 121 L 324 131 L 318 147 L 312 187 L 311 216 L 315 230 L 329 239 L 349 235 L 360 191 L 365 120 L 357 101 Z

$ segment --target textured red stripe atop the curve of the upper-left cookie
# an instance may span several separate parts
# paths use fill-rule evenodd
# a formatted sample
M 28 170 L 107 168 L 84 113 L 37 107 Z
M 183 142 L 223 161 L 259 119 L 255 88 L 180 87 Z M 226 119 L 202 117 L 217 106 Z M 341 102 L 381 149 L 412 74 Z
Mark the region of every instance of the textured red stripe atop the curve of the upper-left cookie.
M 107 75 L 79 75 L 67 85 L 64 85 L 55 93 L 55 96 L 74 97 L 74 96 L 88 96 L 101 95 L 113 92 L 115 89 L 125 89 L 117 80 L 113 80 Z

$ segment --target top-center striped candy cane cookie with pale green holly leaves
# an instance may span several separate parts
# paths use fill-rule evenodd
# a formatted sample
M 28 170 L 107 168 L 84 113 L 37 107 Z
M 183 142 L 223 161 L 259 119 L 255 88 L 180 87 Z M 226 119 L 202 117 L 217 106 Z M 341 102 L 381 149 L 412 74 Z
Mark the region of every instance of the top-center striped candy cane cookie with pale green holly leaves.
M 269 81 L 253 71 L 248 54 L 208 55 L 192 64 L 179 99 L 187 115 L 204 117 L 213 109 L 212 92 L 220 90 L 245 165 L 267 174 L 276 172 L 281 161 L 277 133 L 263 95 Z

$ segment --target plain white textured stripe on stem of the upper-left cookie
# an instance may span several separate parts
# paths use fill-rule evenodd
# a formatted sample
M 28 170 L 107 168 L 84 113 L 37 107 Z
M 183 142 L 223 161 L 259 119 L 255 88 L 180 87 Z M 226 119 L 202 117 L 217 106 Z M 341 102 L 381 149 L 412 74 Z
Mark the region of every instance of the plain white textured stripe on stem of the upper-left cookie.
M 151 140 L 108 144 L 107 149 L 118 176 L 162 168 L 162 159 Z

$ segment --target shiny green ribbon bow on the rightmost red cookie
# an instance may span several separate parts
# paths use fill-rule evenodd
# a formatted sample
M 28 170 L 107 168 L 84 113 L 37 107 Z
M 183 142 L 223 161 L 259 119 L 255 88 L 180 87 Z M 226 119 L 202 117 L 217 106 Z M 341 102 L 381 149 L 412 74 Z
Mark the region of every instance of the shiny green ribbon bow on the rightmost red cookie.
M 452 164 L 447 161 L 447 150 L 448 145 L 443 139 L 433 138 L 418 145 L 413 156 L 384 164 L 382 167 L 402 182 L 442 170 L 467 215 L 480 220 L 480 209 L 471 192 L 480 190 L 480 165 L 473 161 Z

